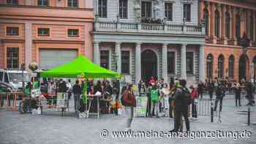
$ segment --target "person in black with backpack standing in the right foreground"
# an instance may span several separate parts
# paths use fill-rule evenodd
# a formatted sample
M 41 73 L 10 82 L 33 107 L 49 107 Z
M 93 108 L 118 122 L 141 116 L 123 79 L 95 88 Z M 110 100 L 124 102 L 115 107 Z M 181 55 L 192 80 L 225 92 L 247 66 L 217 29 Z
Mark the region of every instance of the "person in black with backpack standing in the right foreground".
M 181 126 L 181 116 L 184 116 L 184 120 L 186 123 L 187 131 L 189 131 L 189 117 L 188 117 L 188 105 L 190 103 L 190 93 L 189 89 L 186 87 L 186 80 L 180 80 L 180 85 L 176 88 L 176 93 L 174 95 L 174 111 L 175 111 L 175 122 L 174 129 L 170 132 L 178 132 L 178 129 Z M 182 129 L 181 129 L 182 130 Z

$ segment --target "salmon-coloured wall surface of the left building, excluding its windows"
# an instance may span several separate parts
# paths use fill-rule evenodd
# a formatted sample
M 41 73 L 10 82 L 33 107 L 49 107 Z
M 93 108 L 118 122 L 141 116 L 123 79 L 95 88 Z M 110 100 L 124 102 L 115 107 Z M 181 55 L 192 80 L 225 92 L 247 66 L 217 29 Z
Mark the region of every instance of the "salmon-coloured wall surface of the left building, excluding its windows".
M 0 0 L 0 4 L 4 3 Z M 76 49 L 78 55 L 92 61 L 93 2 L 79 0 L 78 3 L 78 8 L 66 7 L 67 0 L 50 0 L 50 7 L 34 7 L 37 4 L 34 0 L 19 1 L 23 5 L 19 7 L 0 5 L 0 69 L 6 68 L 8 46 L 20 48 L 20 64 L 25 60 L 38 63 L 39 48 Z M 18 26 L 19 35 L 6 36 L 7 26 Z M 37 36 L 37 28 L 49 28 L 50 36 Z M 67 29 L 79 29 L 79 37 L 68 37 Z

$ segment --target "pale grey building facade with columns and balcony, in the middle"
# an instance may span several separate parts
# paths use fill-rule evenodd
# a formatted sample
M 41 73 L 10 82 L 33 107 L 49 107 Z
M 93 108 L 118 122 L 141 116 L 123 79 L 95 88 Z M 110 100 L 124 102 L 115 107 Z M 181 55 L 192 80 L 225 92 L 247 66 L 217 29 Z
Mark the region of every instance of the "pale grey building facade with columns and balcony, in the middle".
M 205 78 L 205 30 L 197 0 L 95 0 L 94 63 L 138 83 Z

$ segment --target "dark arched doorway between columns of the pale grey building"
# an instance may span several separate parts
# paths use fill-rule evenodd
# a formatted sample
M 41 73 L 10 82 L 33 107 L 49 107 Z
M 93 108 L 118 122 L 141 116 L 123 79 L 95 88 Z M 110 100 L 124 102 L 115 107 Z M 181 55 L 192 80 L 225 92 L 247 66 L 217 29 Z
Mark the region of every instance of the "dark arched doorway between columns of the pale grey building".
M 141 71 L 143 81 L 148 81 L 151 76 L 157 77 L 157 55 L 153 50 L 141 53 Z

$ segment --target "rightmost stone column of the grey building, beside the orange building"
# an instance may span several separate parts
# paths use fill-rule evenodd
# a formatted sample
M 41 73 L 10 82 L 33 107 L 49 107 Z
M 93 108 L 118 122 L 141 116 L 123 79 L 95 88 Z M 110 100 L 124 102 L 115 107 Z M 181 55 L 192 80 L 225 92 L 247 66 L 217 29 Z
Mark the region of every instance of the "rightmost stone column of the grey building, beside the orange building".
M 205 80 L 205 46 L 200 45 L 199 48 L 199 80 L 204 82 Z

